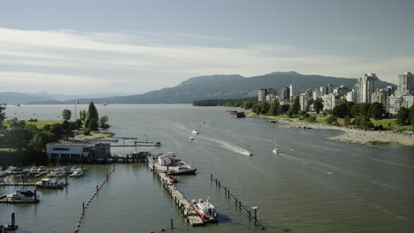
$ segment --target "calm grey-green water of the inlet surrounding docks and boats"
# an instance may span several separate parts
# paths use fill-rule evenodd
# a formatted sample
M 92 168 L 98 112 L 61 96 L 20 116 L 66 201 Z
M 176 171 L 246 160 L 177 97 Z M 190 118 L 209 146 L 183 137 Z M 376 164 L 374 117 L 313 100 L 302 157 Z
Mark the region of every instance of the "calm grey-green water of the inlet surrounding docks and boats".
M 58 119 L 73 106 L 9 106 L 6 114 Z M 87 106 L 78 106 L 86 109 Z M 117 164 L 108 184 L 88 208 L 81 232 L 252 232 L 234 202 L 210 182 L 210 174 L 247 206 L 259 207 L 265 232 L 412 232 L 414 229 L 414 149 L 326 140 L 337 132 L 297 130 L 262 119 L 234 119 L 225 108 L 189 105 L 99 105 L 120 137 L 161 141 L 153 153 L 173 151 L 198 169 L 180 177 L 188 199 L 211 197 L 219 224 L 193 228 L 183 220 L 157 179 L 142 164 Z M 74 109 L 73 109 L 74 110 Z M 35 115 L 34 115 L 35 114 Z M 205 121 L 206 124 L 201 124 Z M 196 128 L 199 135 L 191 135 Z M 190 141 L 194 136 L 195 141 Z M 279 147 L 281 154 L 272 154 Z M 291 149 L 294 150 L 291 150 Z M 112 149 L 127 153 L 128 149 Z M 249 150 L 253 156 L 243 153 Z M 96 184 L 107 168 L 91 165 L 85 177 L 70 178 L 62 191 L 40 191 L 37 205 L 0 204 L 0 223 L 16 212 L 18 232 L 73 232 Z M 0 193 L 13 188 L 0 188 Z M 258 230 L 257 230 L 258 231 Z

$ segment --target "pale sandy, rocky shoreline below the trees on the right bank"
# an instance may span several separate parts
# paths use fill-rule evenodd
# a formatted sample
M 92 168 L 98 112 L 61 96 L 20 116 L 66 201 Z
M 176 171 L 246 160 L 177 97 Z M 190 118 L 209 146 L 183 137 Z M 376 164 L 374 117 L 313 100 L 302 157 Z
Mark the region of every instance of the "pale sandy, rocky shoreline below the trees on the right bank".
M 257 116 L 252 115 L 247 112 L 249 115 L 254 117 L 266 118 L 277 120 L 281 123 L 286 123 L 287 125 L 280 126 L 282 128 L 296 128 L 296 129 L 321 129 L 321 130 L 336 130 L 341 131 L 340 135 L 329 137 L 326 139 L 348 142 L 348 143 L 358 143 L 364 144 L 369 147 L 378 147 L 379 145 L 403 145 L 414 147 L 414 136 L 400 134 L 389 131 L 363 131 L 353 128 L 345 128 L 341 126 L 328 125 L 323 123 L 307 123 L 295 119 L 280 118 L 277 116 Z M 383 149 L 383 148 L 382 148 Z

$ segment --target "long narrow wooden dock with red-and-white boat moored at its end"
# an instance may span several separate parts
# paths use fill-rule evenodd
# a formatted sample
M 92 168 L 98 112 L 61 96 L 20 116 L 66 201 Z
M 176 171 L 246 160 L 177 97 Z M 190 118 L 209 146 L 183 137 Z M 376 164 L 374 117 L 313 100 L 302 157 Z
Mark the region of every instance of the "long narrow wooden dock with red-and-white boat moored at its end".
M 181 192 L 177 189 L 177 187 L 168 179 L 165 175 L 165 171 L 167 170 L 166 166 L 158 165 L 157 162 L 149 162 L 149 168 L 152 169 L 154 174 L 159 178 L 161 184 L 165 190 L 170 194 L 171 198 L 174 200 L 175 204 L 180 208 L 181 213 L 186 217 L 187 221 L 192 226 L 203 226 L 204 222 L 196 214 L 196 211 L 191 207 L 188 199 L 186 199 Z

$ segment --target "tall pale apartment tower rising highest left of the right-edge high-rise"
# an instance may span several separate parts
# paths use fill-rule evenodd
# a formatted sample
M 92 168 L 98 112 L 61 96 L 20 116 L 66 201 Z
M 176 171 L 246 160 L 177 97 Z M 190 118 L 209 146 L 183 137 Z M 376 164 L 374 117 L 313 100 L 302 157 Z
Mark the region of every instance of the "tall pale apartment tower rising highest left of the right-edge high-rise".
M 357 102 L 371 103 L 372 94 L 377 89 L 378 77 L 375 73 L 365 73 L 363 77 L 357 79 Z

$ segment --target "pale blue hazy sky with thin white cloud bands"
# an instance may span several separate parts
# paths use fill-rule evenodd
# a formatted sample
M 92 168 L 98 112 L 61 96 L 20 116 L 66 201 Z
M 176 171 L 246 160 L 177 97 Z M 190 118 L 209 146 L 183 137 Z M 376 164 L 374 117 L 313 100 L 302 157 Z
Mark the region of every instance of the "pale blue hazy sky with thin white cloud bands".
M 414 1 L 2 1 L 0 92 L 140 94 L 272 71 L 396 83 Z

